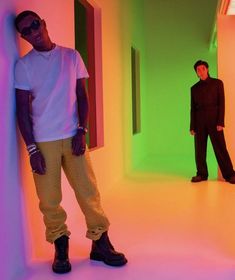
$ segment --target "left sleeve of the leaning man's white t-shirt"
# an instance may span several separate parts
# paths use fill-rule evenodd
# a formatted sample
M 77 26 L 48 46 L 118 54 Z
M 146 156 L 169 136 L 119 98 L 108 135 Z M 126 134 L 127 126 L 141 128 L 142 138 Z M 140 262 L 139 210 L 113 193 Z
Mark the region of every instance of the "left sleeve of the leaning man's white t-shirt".
M 31 90 L 26 66 L 22 60 L 18 60 L 15 65 L 15 88 Z

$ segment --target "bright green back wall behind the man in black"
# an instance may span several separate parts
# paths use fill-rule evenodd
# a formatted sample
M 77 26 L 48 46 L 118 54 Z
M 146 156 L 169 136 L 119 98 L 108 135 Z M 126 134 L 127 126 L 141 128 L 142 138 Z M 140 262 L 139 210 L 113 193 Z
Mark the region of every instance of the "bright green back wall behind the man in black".
M 142 135 L 138 140 L 133 137 L 133 164 L 142 170 L 188 176 L 195 172 L 190 87 L 198 81 L 193 70 L 198 59 L 208 60 L 211 75 L 217 76 L 216 51 L 209 51 L 216 4 L 214 0 L 149 1 L 136 8 L 136 20 L 144 27 L 135 20 L 134 38 L 144 48 L 145 70 Z M 216 176 L 210 149 L 208 159 L 210 173 Z

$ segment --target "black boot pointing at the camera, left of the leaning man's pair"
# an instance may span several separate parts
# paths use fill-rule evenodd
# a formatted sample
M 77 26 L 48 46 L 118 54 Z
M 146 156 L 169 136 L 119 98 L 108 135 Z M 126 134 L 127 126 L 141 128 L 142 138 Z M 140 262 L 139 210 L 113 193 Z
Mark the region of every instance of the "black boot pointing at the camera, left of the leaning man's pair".
M 55 258 L 52 264 L 52 270 L 55 273 L 66 273 L 71 270 L 71 264 L 69 262 L 69 238 L 66 235 L 62 235 L 57 238 L 55 244 Z

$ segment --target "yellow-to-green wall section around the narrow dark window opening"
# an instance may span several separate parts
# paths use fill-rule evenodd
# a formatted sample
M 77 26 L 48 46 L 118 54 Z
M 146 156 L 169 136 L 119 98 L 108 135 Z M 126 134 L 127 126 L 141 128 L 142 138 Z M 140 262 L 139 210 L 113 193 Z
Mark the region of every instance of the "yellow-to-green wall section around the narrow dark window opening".
M 146 157 L 147 139 L 147 85 L 146 85 L 146 25 L 144 9 L 146 2 L 131 0 L 123 3 L 120 14 L 122 32 L 122 76 L 123 76 L 123 132 L 124 132 L 124 166 L 129 174 L 133 168 Z M 132 134 L 132 77 L 131 77 L 131 47 L 140 54 L 140 93 L 141 93 L 141 132 Z

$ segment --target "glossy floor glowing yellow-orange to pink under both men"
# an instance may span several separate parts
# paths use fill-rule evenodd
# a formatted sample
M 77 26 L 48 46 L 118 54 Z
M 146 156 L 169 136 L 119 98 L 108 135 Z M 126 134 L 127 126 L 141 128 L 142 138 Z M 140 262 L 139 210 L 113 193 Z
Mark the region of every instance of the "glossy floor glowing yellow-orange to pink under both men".
M 235 185 L 139 173 L 105 190 L 103 205 L 125 267 L 90 261 L 90 241 L 73 233 L 71 273 L 53 274 L 48 258 L 30 263 L 24 280 L 235 279 Z

